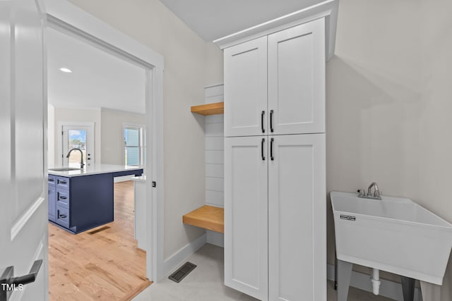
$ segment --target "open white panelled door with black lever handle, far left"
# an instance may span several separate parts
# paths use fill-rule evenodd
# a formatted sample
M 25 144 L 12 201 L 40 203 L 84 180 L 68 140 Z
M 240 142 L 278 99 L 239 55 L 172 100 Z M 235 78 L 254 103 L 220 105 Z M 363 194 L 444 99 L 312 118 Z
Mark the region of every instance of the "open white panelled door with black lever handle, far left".
M 10 300 L 48 299 L 47 177 L 44 146 L 47 99 L 43 74 L 42 1 L 0 1 L 0 276 L 29 274 Z

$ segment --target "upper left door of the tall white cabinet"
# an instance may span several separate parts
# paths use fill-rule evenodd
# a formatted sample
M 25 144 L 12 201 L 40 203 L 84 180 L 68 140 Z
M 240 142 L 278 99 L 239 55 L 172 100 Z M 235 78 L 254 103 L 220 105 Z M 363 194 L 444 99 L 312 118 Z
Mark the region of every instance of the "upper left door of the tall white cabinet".
M 225 49 L 225 137 L 267 135 L 267 37 Z

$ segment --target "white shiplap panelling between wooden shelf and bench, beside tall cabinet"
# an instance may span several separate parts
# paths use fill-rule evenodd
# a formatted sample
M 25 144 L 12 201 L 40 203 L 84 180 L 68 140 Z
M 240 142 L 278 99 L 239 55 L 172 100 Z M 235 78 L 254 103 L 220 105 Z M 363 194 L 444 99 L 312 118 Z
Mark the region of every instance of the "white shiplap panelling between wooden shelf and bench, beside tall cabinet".
M 223 85 L 206 87 L 205 103 L 223 102 Z M 206 116 L 206 204 L 224 207 L 224 118 L 223 114 Z

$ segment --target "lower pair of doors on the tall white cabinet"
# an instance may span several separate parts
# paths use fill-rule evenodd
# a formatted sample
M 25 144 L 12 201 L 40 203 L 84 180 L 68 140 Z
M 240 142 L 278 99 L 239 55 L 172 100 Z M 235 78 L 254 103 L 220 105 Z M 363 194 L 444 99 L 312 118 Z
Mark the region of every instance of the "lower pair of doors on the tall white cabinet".
M 325 191 L 325 134 L 226 137 L 225 284 L 326 300 Z

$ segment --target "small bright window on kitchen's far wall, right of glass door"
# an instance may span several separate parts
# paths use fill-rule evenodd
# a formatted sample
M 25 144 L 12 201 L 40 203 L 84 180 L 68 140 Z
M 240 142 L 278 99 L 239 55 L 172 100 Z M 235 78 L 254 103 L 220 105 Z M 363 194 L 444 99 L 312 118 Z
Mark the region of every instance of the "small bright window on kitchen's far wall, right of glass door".
M 124 163 L 126 165 L 144 165 L 143 128 L 124 126 Z

